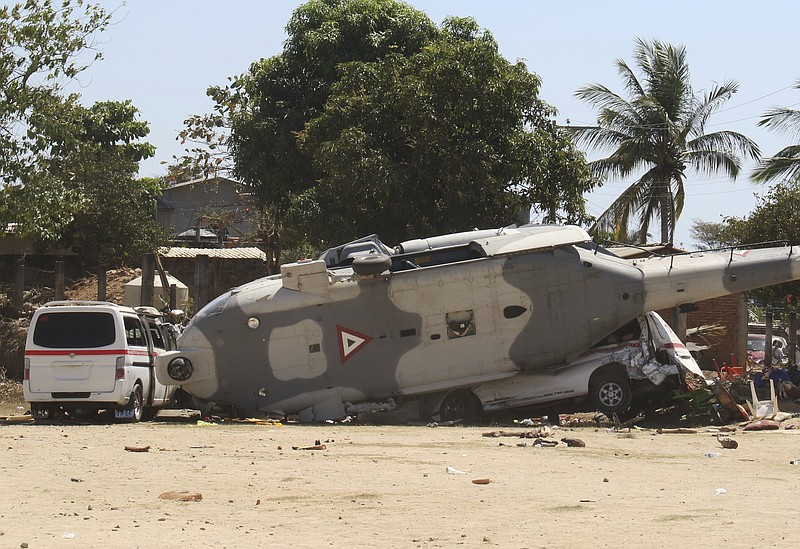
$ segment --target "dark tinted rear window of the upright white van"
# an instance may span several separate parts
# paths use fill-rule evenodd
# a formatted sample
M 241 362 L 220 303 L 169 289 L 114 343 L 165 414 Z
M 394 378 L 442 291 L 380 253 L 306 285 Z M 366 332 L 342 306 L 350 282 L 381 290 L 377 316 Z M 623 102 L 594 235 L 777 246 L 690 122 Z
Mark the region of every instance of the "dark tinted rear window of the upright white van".
M 115 340 L 111 313 L 44 313 L 33 331 L 35 345 L 52 349 L 91 349 L 111 345 Z

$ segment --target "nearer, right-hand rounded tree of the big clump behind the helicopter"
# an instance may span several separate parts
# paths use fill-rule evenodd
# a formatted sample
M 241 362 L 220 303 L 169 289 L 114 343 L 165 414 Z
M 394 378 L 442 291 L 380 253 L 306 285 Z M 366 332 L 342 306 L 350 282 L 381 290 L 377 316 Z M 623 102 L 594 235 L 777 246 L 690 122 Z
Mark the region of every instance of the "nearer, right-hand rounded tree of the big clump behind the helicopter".
M 532 199 L 552 221 L 565 203 L 582 219 L 588 170 L 570 167 L 585 162 L 549 121 L 538 77 L 506 62 L 474 20 L 449 19 L 413 55 L 350 62 L 340 73 L 325 109 L 298 134 L 320 177 L 290 213 L 305 214 L 294 220 L 313 240 L 376 226 L 396 242 L 506 225 Z

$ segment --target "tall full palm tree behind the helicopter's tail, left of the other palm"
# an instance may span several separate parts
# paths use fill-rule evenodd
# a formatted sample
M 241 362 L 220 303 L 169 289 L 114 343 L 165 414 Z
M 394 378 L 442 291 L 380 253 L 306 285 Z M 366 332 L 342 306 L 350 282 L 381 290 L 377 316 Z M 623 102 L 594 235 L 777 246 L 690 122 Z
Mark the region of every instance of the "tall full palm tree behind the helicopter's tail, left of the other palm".
M 626 234 L 635 221 L 636 239 L 643 243 L 651 219 L 661 219 L 661 242 L 672 244 L 675 224 L 685 198 L 687 167 L 700 173 L 723 172 L 736 178 L 740 154 L 758 157 L 758 146 L 732 131 L 704 133 L 709 116 L 736 92 L 728 81 L 702 98 L 689 82 L 686 48 L 636 39 L 634 59 L 640 79 L 622 59 L 616 62 L 630 99 L 594 84 L 575 95 L 599 109 L 598 126 L 575 130 L 579 142 L 615 149 L 591 163 L 596 175 L 625 178 L 644 174 L 598 217 L 594 233 Z

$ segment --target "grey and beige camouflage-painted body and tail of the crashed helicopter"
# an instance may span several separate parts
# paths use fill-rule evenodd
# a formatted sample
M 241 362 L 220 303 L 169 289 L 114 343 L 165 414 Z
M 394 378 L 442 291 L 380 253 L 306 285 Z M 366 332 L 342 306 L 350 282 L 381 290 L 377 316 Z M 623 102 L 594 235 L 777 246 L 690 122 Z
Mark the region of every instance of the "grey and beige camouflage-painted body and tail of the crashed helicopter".
M 645 311 L 800 278 L 789 248 L 624 260 L 564 245 L 377 276 L 320 263 L 217 298 L 159 377 L 185 356 L 186 390 L 249 413 L 442 392 L 564 364 Z M 450 339 L 447 315 L 469 311 L 474 335 Z

